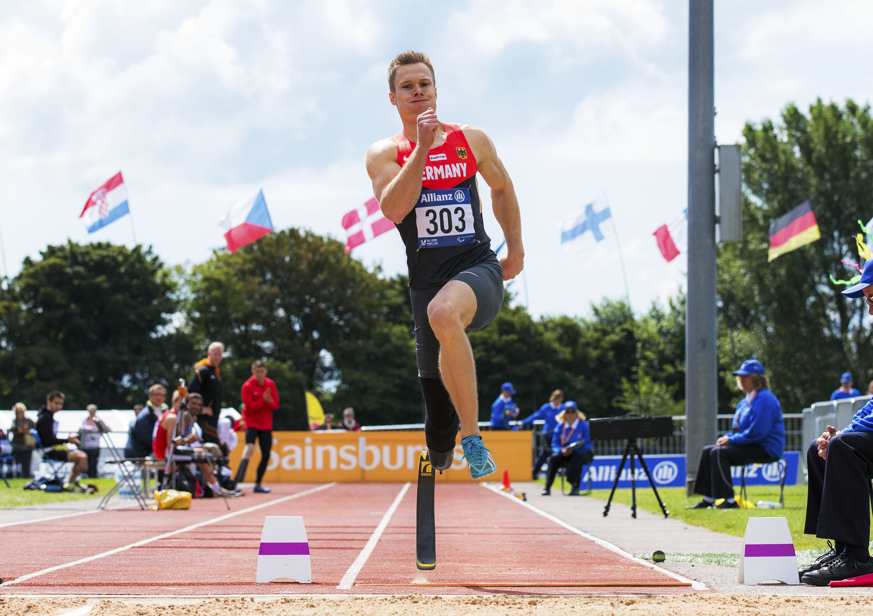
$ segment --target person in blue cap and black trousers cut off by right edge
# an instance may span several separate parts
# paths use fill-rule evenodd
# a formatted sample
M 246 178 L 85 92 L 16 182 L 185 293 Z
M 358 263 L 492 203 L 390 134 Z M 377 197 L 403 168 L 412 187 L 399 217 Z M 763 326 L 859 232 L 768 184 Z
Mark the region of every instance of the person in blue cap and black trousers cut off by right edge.
M 867 302 L 873 315 L 873 259 L 864 264 L 861 282 L 842 294 Z M 807 520 L 803 532 L 834 541 L 834 547 L 800 570 L 801 582 L 831 582 L 873 573 L 870 558 L 870 476 L 873 474 L 873 401 L 849 427 L 833 426 L 807 449 Z

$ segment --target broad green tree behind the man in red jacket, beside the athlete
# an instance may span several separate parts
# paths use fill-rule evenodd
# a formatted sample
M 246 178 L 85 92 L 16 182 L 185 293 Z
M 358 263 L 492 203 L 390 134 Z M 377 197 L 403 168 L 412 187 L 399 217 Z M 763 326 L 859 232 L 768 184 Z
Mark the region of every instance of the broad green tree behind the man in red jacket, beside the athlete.
M 232 254 L 218 250 L 197 265 L 189 320 L 204 347 L 220 340 L 229 352 L 222 364 L 225 403 L 240 403 L 251 361 L 266 359 L 282 400 L 277 429 L 306 428 L 302 384 L 326 411 L 347 405 L 370 424 L 417 421 L 405 281 L 379 273 L 346 254 L 342 243 L 298 229 Z

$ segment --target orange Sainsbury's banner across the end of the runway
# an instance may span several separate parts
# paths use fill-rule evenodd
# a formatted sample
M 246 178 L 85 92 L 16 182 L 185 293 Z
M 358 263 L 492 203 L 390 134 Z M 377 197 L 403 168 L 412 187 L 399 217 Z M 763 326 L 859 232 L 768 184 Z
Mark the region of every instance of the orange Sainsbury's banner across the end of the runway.
M 230 468 L 237 469 L 245 437 L 240 433 L 237 447 L 230 452 Z M 497 481 L 509 469 L 512 481 L 531 476 L 531 433 L 483 432 L 485 447 L 494 453 Z M 458 435 L 455 462 L 436 481 L 469 482 L 467 461 Z M 415 482 L 418 454 L 425 449 L 424 432 L 273 432 L 270 462 L 264 483 L 306 482 Z M 245 481 L 255 480 L 260 450 L 251 457 Z

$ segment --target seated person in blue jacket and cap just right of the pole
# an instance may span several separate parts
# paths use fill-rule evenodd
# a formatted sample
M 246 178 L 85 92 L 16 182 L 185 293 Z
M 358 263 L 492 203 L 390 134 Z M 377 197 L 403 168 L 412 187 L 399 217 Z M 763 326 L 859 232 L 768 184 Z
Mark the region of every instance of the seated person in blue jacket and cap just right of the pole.
M 733 374 L 746 398 L 739 400 L 731 434 L 703 449 L 694 492 L 704 498 L 685 509 L 738 509 L 739 504 L 733 497 L 731 467 L 773 462 L 779 460 L 785 450 L 782 407 L 770 391 L 764 366 L 757 359 L 746 359 Z M 717 498 L 724 498 L 725 502 L 716 506 Z

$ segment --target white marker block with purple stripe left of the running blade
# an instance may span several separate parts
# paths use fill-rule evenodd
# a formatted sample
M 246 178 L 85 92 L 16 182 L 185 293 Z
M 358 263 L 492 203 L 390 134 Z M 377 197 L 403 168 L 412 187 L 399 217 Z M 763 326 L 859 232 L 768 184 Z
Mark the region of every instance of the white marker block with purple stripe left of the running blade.
M 303 584 L 313 581 L 306 526 L 299 516 L 267 516 L 258 548 L 258 584 L 291 578 Z

